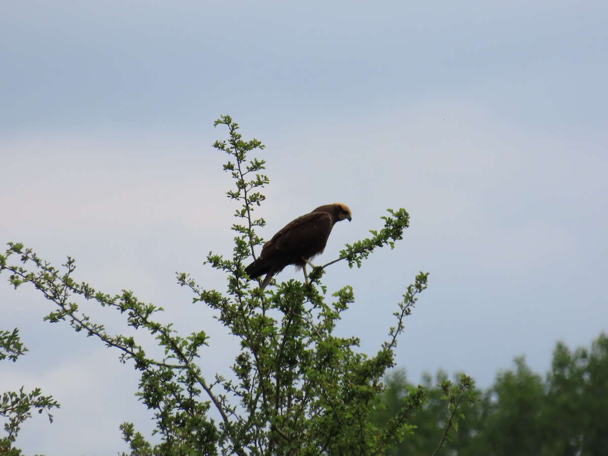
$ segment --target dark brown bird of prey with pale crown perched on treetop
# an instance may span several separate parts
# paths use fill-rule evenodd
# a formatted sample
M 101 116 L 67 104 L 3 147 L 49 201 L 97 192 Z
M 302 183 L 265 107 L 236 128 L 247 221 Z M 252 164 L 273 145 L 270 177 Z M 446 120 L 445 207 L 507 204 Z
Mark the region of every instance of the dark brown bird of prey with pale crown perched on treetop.
M 334 224 L 344 219 L 351 221 L 351 213 L 341 202 L 317 207 L 298 217 L 264 244 L 260 257 L 249 264 L 245 272 L 250 278 L 266 274 L 260 289 L 289 264 L 302 267 L 306 277 L 306 263 L 313 266 L 309 260 L 323 252 Z

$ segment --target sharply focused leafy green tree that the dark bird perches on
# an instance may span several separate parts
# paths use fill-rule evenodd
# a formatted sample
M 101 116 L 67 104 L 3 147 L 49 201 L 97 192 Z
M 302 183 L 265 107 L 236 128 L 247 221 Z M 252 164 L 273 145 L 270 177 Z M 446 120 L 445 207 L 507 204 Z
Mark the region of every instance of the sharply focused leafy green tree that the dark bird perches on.
M 255 211 L 264 201 L 260 190 L 269 179 L 262 174 L 264 161 L 250 155 L 264 146 L 256 139 L 243 140 L 229 116 L 215 125 L 229 129 L 229 139 L 214 147 L 227 154 L 224 171 L 235 184 L 227 196 L 239 204 L 231 227 L 231 257 L 210 252 L 206 261 L 224 273 L 226 291 L 199 286 L 182 272 L 178 283 L 193 292 L 193 302 L 212 308 L 240 340 L 231 378 L 210 375 L 197 363 L 199 353 L 210 350 L 204 330 L 179 336 L 173 325 L 156 319 L 162 308 L 140 302 L 133 292 L 111 296 L 75 282 L 73 258 L 59 269 L 22 244 L 9 243 L 0 257 L 1 272 L 9 274 L 15 288 L 32 285 L 55 304 L 46 320 L 66 321 L 75 331 L 97 337 L 119 351 L 120 361 L 131 362 L 140 371 L 137 396 L 154 410 L 161 443 L 151 444 L 132 423 L 123 423 L 123 438 L 132 454 L 384 454 L 413 432 L 412 416 L 424 403 L 424 388 L 410 388 L 390 418 L 381 425 L 370 420 L 381 403 L 385 371 L 394 365 L 404 318 L 426 288 L 428 274 L 420 273 L 407 287 L 396 306 L 395 325 L 373 356 L 358 350 L 356 336 L 333 334 L 354 301 L 354 291 L 347 285 L 328 296 L 322 276 L 337 261 L 361 267 L 376 248 L 392 248 L 409 225 L 409 215 L 404 209 L 389 209 L 381 229 L 371 230 L 370 238 L 347 244 L 339 258 L 314 268 L 309 283 L 289 280 L 260 291 L 244 266 L 263 244 L 256 230 L 264 226 L 264 219 L 256 218 Z M 15 257 L 18 263 L 9 264 Z M 106 331 L 103 323 L 81 310 L 91 302 L 125 315 L 136 330 L 153 334 L 165 356 L 148 356 L 136 337 Z M 444 385 L 447 433 L 458 422 L 459 387 Z

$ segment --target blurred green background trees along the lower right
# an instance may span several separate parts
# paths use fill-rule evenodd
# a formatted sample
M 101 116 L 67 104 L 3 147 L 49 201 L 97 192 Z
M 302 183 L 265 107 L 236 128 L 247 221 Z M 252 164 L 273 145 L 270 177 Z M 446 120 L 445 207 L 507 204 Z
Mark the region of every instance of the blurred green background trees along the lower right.
M 446 394 L 445 373 L 438 373 L 435 386 L 426 375 L 429 400 L 416 417 L 416 435 L 391 454 L 434 454 L 437 440 L 450 429 L 458 432 L 447 434 L 444 451 L 458 456 L 608 454 L 606 334 L 600 334 L 590 348 L 575 351 L 560 342 L 545 378 L 531 371 L 525 359 L 516 358 L 514 367 L 500 371 L 486 391 L 466 390 L 463 379 Z M 404 406 L 412 388 L 403 371 L 392 373 L 386 382 L 382 393 L 386 410 L 376 412 L 376 423 L 384 423 L 387 415 Z M 446 427 L 442 396 L 451 398 L 449 416 L 463 412 L 466 420 L 460 416 L 459 425 Z

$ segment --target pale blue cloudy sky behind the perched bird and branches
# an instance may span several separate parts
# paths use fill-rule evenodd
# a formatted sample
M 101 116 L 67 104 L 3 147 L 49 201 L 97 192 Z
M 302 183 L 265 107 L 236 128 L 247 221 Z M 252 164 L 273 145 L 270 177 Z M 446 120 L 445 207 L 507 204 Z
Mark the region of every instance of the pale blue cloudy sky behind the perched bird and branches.
M 608 330 L 607 21 L 601 2 L 4 1 L 0 241 L 72 255 L 79 280 L 207 330 L 203 361 L 224 372 L 235 341 L 174 272 L 221 280 L 202 262 L 231 249 L 232 183 L 211 147 L 230 114 L 266 144 L 264 237 L 345 202 L 353 222 L 329 261 L 385 209 L 410 212 L 395 250 L 330 269 L 330 290 L 356 297 L 340 334 L 374 353 L 429 271 L 399 340 L 410 380 L 443 368 L 488 387 L 521 354 L 544 372 L 558 340 Z M 35 291 L 0 286 L 0 305 L 30 348 L 0 390 L 41 386 L 62 404 L 52 425 L 24 426 L 27 454 L 116 454 L 123 421 L 150 432 L 117 353 L 42 322 Z

